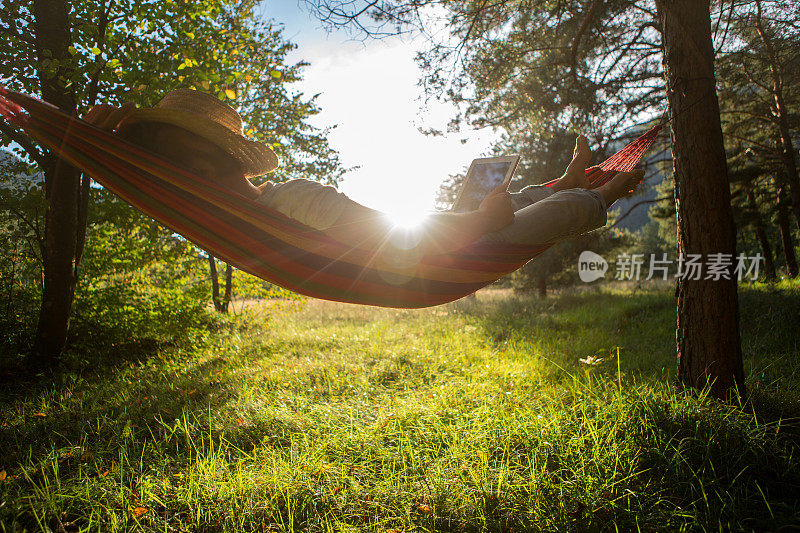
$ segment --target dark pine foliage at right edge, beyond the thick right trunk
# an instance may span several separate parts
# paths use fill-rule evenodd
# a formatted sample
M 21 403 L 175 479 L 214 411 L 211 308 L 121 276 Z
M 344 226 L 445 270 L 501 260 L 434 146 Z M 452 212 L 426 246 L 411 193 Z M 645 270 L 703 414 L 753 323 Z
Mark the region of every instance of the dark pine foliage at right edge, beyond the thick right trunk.
M 769 2 L 754 2 L 732 12 L 730 34 L 739 46 L 717 61 L 739 244 L 764 256 L 776 249 L 776 227 L 788 229 L 782 220 L 788 217 L 788 197 L 800 199 L 796 156 L 787 157 L 784 143 L 796 133 L 782 137 L 784 130 L 797 132 L 800 127 L 795 111 L 800 103 L 800 19 L 788 12 L 775 19 L 773 10 Z M 796 206 L 794 211 L 796 217 Z M 784 252 L 791 275 L 792 260 Z

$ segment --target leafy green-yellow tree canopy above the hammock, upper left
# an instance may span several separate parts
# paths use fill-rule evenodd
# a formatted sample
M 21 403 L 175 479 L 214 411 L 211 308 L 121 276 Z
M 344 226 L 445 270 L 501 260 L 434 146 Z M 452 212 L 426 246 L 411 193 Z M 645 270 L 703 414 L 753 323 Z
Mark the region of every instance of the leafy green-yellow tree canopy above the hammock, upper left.
M 257 18 L 253 0 L 71 5 L 72 59 L 66 67 L 79 110 L 97 101 L 154 105 L 171 89 L 194 87 L 239 108 L 248 135 L 272 144 L 283 160 L 281 179 L 335 183 L 341 176 L 325 132 L 306 122 L 318 112 L 314 99 L 289 90 L 306 63 L 285 63 L 295 45 L 272 22 Z M 1 13 L 0 55 L 13 60 L 0 65 L 0 83 L 36 94 L 38 70 L 59 65 L 36 58 L 32 0 L 9 0 Z M 9 138 L 0 139 L 7 144 Z

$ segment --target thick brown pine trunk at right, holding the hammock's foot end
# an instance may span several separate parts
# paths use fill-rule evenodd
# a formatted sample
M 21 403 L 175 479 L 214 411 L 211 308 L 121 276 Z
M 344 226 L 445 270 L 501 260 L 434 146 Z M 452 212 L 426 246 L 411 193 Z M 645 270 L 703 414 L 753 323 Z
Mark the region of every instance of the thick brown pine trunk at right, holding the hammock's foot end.
M 708 0 L 656 0 L 662 19 L 678 247 L 736 252 L 730 186 L 714 78 Z M 717 398 L 744 394 L 736 280 L 678 280 L 678 381 Z

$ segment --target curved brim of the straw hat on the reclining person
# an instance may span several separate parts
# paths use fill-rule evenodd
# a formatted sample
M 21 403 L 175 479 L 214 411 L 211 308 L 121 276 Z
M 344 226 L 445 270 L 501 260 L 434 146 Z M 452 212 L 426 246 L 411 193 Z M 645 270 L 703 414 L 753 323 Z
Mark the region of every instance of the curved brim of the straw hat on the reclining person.
M 251 141 L 213 120 L 204 119 L 192 113 L 157 107 L 136 109 L 120 122 L 117 131 L 122 131 L 130 124 L 138 122 L 171 124 L 199 135 L 236 159 L 241 165 L 245 177 L 248 178 L 266 174 L 279 166 L 278 156 L 265 144 Z

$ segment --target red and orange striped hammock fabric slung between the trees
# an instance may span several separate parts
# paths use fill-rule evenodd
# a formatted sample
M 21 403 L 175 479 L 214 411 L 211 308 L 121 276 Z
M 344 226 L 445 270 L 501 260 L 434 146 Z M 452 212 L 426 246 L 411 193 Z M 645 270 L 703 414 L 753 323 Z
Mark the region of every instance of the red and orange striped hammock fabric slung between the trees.
M 0 115 L 197 246 L 314 298 L 398 308 L 439 305 L 496 281 L 548 248 L 478 242 L 424 256 L 353 248 L 41 100 L 0 87 Z M 591 186 L 632 170 L 659 130 L 655 126 L 587 169 Z

